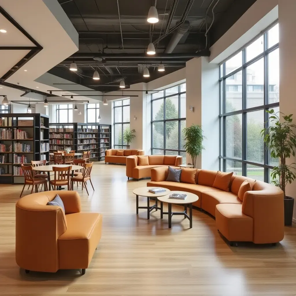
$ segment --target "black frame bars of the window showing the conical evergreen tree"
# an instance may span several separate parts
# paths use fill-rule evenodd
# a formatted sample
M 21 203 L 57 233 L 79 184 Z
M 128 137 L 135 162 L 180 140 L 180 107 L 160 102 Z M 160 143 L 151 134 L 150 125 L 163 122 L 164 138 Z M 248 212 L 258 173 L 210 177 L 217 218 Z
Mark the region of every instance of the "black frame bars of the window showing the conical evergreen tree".
M 167 151 L 173 151 L 173 152 L 178 152 L 178 155 L 181 155 L 181 152 L 185 152 L 186 150 L 181 149 L 181 121 L 185 120 L 186 121 L 186 117 L 184 118 L 180 118 L 181 115 L 181 95 L 185 94 L 186 95 L 186 91 L 182 91 L 181 92 L 181 85 L 185 84 L 185 83 L 181 83 L 178 86 L 178 92 L 175 94 L 170 94 L 168 96 L 166 96 L 166 91 L 168 89 L 171 89 L 173 86 L 162 90 L 163 91 L 163 96 L 159 97 L 159 98 L 155 98 L 153 99 L 153 96 L 151 95 L 151 154 L 153 155 L 153 151 L 154 150 L 161 150 L 163 151 L 163 155 L 167 155 L 166 152 Z M 176 87 L 175 86 L 175 87 Z M 178 118 L 173 118 L 173 119 L 165 119 L 165 102 L 167 98 L 173 97 L 173 96 L 178 96 Z M 157 100 L 163 100 L 163 120 L 153 120 L 153 102 L 157 101 Z M 186 96 L 185 96 L 185 100 L 186 100 Z M 186 110 L 186 108 L 185 108 Z M 166 141 L 166 122 L 168 121 L 178 121 L 178 149 L 168 149 L 165 148 L 165 141 Z M 163 148 L 157 148 L 157 147 L 153 147 L 153 123 L 155 122 L 163 122 Z

